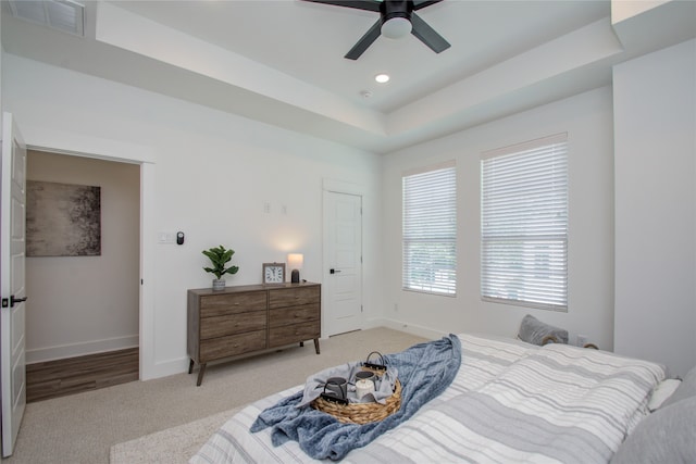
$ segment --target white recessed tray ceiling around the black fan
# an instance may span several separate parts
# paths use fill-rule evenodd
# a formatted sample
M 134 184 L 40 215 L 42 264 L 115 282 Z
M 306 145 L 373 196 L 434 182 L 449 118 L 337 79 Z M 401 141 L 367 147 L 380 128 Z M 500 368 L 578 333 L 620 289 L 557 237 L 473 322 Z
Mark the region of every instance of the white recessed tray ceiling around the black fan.
M 381 37 L 352 61 L 344 54 L 377 13 L 299 0 L 85 2 L 78 38 L 2 3 L 9 53 L 375 152 L 608 85 L 613 64 L 696 36 L 693 1 L 612 27 L 608 0 L 445 0 L 418 14 L 448 50 Z M 391 80 L 376 84 L 377 73 Z

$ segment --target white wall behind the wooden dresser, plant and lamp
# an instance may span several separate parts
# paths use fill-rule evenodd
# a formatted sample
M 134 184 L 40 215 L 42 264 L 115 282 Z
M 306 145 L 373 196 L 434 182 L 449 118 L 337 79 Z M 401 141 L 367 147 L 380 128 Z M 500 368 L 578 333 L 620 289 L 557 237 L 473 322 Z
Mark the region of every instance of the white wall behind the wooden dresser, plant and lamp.
M 151 153 L 142 188 L 152 197 L 146 212 L 153 230 L 145 239 L 154 251 L 141 324 L 152 334 L 140 340 L 151 359 L 141 377 L 187 367 L 186 289 L 212 280 L 201 250 L 236 250 L 240 271 L 227 285 L 260 283 L 261 263 L 285 261 L 288 251 L 304 253 L 303 278 L 322 281 L 325 178 L 364 188 L 363 303 L 366 314 L 377 311 L 380 296 L 369 289 L 380 288 L 377 155 L 11 54 L 2 71 L 3 104 L 28 145 L 69 140 L 97 154 L 119 146 Z M 176 230 L 186 234 L 184 246 L 157 243 L 157 231 Z

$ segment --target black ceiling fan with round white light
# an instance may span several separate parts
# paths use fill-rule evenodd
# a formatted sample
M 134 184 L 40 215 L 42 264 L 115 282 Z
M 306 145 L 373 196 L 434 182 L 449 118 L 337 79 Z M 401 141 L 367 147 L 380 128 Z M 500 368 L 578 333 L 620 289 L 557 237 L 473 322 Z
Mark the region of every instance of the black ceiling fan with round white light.
M 389 38 L 400 38 L 409 33 L 418 37 L 435 53 L 447 50 L 450 45 L 431 26 L 425 23 L 415 11 L 439 3 L 442 0 L 304 0 L 313 3 L 333 4 L 336 7 L 353 8 L 380 12 L 380 20 L 364 36 L 346 53 L 347 59 L 357 60 L 381 35 Z

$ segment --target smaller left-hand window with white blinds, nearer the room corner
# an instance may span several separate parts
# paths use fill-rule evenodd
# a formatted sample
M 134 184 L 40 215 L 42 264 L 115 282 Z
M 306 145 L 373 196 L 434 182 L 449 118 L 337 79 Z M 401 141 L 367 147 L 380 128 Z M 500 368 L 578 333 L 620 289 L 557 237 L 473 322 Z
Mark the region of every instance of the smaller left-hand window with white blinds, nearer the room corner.
M 455 162 L 408 173 L 403 188 L 405 290 L 457 293 Z

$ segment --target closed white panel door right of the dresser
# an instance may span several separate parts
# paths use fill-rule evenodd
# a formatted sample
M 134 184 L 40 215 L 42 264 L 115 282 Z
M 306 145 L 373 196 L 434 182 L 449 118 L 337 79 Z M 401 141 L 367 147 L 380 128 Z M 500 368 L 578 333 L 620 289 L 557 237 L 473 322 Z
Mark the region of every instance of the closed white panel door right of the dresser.
M 362 328 L 362 197 L 324 191 L 324 321 L 332 336 Z

